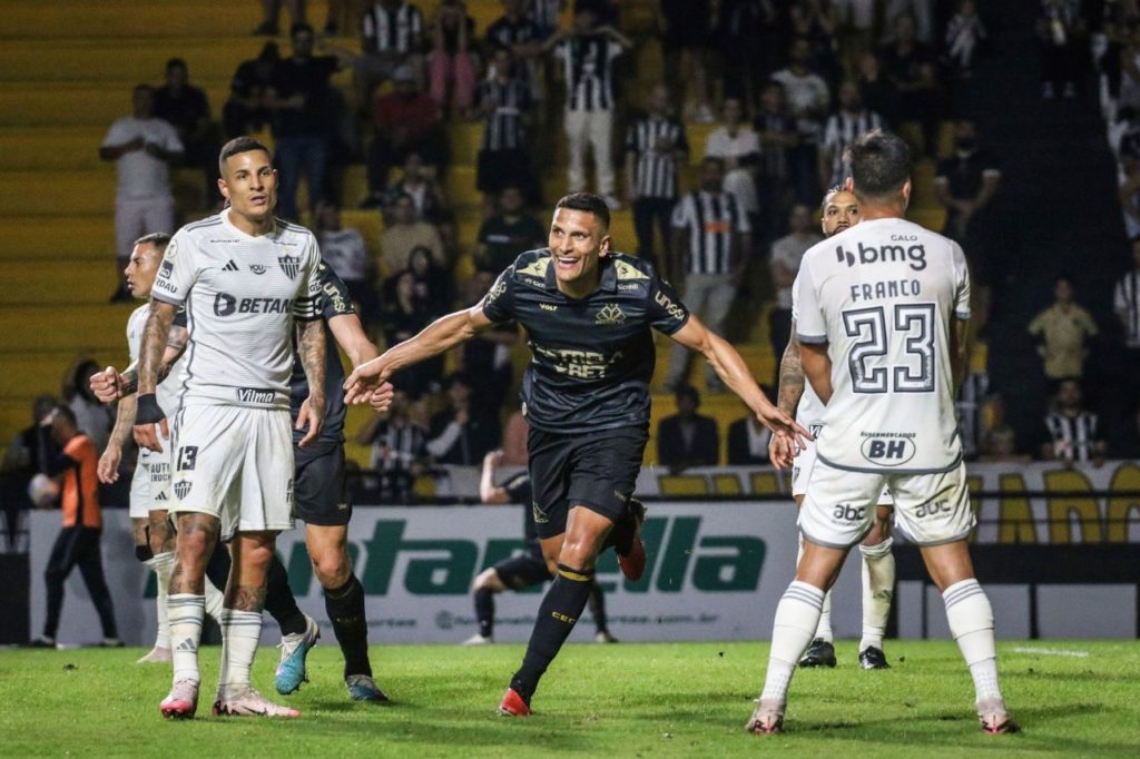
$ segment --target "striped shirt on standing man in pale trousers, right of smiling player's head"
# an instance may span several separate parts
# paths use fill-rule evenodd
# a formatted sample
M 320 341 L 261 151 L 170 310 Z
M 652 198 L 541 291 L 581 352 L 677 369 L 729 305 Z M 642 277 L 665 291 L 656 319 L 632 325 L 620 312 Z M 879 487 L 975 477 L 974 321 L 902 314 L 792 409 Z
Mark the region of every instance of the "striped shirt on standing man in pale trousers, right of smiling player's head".
M 673 210 L 674 229 L 689 230 L 689 274 L 726 275 L 735 263 L 734 234 L 751 231 L 728 193 L 695 190 Z

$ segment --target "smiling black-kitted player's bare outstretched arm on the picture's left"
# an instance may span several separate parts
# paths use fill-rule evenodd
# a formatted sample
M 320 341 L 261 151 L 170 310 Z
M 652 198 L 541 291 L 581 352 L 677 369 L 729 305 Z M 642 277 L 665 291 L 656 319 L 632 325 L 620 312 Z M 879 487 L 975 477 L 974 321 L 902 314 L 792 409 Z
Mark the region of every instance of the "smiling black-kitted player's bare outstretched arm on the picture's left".
M 394 345 L 378 358 L 361 364 L 344 381 L 344 402 L 367 403 L 373 392 L 402 368 L 414 366 L 464 343 L 490 328 L 482 302 L 440 317 L 415 337 Z

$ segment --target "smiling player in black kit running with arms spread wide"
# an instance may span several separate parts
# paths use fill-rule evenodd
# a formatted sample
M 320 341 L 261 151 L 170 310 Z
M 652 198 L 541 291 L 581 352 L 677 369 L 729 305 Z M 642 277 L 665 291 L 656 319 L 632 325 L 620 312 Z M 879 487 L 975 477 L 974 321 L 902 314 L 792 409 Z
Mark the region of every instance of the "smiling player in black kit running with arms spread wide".
M 685 309 L 653 267 L 613 252 L 605 202 L 585 193 L 559 201 L 549 247 L 523 253 L 483 300 L 358 366 L 349 402 L 388 403 L 385 381 L 512 319 L 532 358 L 522 383 L 530 434 L 535 522 L 554 574 L 538 610 L 522 667 L 499 713 L 530 715 L 538 680 L 589 597 L 598 554 L 613 546 L 632 579 L 645 569 L 641 517 L 630 509 L 649 440 L 654 351 L 650 327 L 698 351 L 774 434 L 807 432 L 764 395 L 740 353 Z M 800 438 L 803 436 L 803 438 Z

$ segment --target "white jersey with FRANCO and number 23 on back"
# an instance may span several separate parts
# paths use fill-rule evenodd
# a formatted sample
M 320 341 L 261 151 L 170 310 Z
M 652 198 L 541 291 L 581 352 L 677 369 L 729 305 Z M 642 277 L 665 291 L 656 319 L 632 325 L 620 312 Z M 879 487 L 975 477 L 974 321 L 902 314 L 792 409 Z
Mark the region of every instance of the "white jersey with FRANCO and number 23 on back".
M 833 394 L 817 442 L 857 472 L 945 472 L 961 460 L 950 326 L 970 318 L 958 243 L 905 219 L 863 221 L 805 255 L 796 332 L 826 344 Z

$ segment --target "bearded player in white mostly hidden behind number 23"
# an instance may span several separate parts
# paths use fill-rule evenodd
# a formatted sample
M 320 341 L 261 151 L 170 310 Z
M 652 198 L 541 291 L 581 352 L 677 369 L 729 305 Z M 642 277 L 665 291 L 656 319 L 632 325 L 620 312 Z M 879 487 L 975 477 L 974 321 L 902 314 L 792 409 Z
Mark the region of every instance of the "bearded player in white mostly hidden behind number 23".
M 836 187 L 823 196 L 821 226 L 824 237 L 832 237 L 860 222 L 858 198 L 842 187 Z M 812 386 L 805 382 L 800 366 L 800 346 L 796 340 L 796 297 L 792 287 L 792 324 L 788 348 L 780 361 L 780 390 L 777 405 L 796 416 L 800 426 L 817 435 L 823 429 L 823 402 Z M 795 456 L 793 460 L 792 457 Z M 804 505 L 807 480 L 815 464 L 815 443 L 789 450 L 779 438 L 772 438 L 768 457 L 779 467 L 792 467 L 791 493 L 796 507 Z M 883 489 L 876 508 L 874 527 L 860 544 L 863 578 L 863 635 L 860 639 L 858 663 L 863 669 L 887 669 L 887 656 L 882 651 L 882 636 L 890 615 L 890 599 L 895 590 L 895 557 L 890 553 L 890 491 Z M 799 556 L 804 554 L 804 537 L 799 538 Z M 800 667 L 834 667 L 836 648 L 831 631 L 831 591 L 823 598 L 823 612 L 816 627 L 812 645 L 807 647 Z

